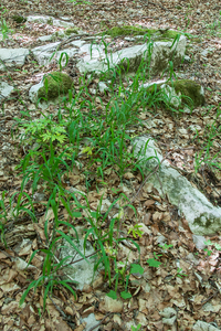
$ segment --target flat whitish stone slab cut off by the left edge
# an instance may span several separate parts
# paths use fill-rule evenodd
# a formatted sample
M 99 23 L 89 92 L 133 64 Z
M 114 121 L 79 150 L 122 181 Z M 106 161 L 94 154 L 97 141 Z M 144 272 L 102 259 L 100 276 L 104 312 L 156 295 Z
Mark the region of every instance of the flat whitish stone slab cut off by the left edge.
M 0 49 L 0 60 L 10 67 L 21 67 L 24 65 L 28 49 Z M 4 65 L 0 62 L 0 71 L 6 71 Z

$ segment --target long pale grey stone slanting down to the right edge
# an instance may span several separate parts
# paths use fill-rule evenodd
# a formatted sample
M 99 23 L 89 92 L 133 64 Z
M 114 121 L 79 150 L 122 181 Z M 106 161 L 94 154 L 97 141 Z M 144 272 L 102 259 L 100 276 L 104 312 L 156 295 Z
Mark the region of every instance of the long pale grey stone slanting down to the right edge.
M 133 145 L 135 154 L 140 153 L 139 158 L 145 157 L 146 160 L 141 162 L 141 167 L 148 174 L 162 160 L 161 152 L 155 141 L 147 137 L 136 138 Z M 157 175 L 151 175 L 148 182 L 154 184 L 161 196 L 167 194 L 170 203 L 179 207 L 193 234 L 211 235 L 221 229 L 221 209 L 213 206 L 199 190 L 171 168 L 168 161 L 161 163 Z

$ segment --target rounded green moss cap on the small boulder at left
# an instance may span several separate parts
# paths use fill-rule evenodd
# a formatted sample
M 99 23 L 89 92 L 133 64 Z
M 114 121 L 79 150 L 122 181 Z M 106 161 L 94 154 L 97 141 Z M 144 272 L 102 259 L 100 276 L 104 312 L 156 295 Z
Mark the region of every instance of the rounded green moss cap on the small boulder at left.
M 46 83 L 48 82 L 48 83 Z M 48 93 L 46 93 L 48 84 Z M 69 89 L 73 88 L 72 78 L 60 72 L 53 72 L 44 78 L 44 86 L 42 86 L 38 92 L 38 97 L 46 98 L 48 100 L 53 100 L 60 95 L 67 94 Z

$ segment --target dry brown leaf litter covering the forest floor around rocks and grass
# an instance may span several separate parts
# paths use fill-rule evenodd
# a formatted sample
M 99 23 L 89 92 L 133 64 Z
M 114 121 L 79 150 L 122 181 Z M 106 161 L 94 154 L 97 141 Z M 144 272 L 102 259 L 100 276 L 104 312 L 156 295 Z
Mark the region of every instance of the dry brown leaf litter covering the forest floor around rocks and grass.
M 13 30 L 11 36 L 1 41 L 1 47 L 34 47 L 40 45 L 39 36 L 54 33 L 62 28 L 50 24 L 17 23 L 14 15 L 28 17 L 31 14 L 52 15 L 54 18 L 69 18 L 78 29 L 93 35 L 116 25 L 135 25 L 156 29 L 175 29 L 191 33 L 194 38 L 188 42 L 187 55 L 189 63 L 183 63 L 177 76 L 191 78 L 203 86 L 206 92 L 206 107 L 198 107 L 191 117 L 171 116 L 164 109 L 157 113 L 145 111 L 139 118 L 146 122 L 146 128 L 137 128 L 137 134 L 146 134 L 157 138 L 159 146 L 167 154 L 170 163 L 180 169 L 191 183 L 197 186 L 217 206 L 221 205 L 221 174 L 214 171 L 207 162 L 201 164 L 198 173 L 194 172 L 194 154 L 202 149 L 207 150 L 208 137 L 213 124 L 215 135 L 210 136 L 210 160 L 214 158 L 220 162 L 220 100 L 221 100 L 221 6 L 219 1 L 90 1 L 90 3 L 65 1 L 1 1 L 2 19 Z M 10 31 L 9 31 L 10 32 Z M 129 41 L 116 38 L 109 41 L 113 51 L 129 45 Z M 49 67 L 51 72 L 53 67 Z M 69 67 L 71 74 L 72 67 Z M 44 72 L 45 73 L 45 72 Z M 4 205 L 10 210 L 10 199 L 20 190 L 22 177 L 17 170 L 20 160 L 27 151 L 19 145 L 14 118 L 20 118 L 22 111 L 35 110 L 29 99 L 29 88 L 41 81 L 44 74 L 33 63 L 30 56 L 22 71 L 0 73 L 0 76 L 13 84 L 15 92 L 2 104 L 0 115 L 1 126 L 1 169 L 0 191 L 4 196 Z M 78 77 L 78 73 L 74 73 Z M 159 77 L 156 77 L 159 78 Z M 54 111 L 53 107 L 51 108 Z M 33 116 L 39 117 L 38 110 Z M 196 130 L 191 129 L 197 128 Z M 210 128 L 210 129 L 209 129 Z M 13 132 L 13 135 L 11 135 Z M 204 154 L 202 154 L 203 157 Z M 82 160 L 85 164 L 88 158 Z M 183 166 L 185 163 L 185 166 Z M 91 178 L 93 177 L 93 171 Z M 19 307 L 19 300 L 28 288 L 30 279 L 36 279 L 42 273 L 44 255 L 40 254 L 32 261 L 33 268 L 24 270 L 19 266 L 18 257 L 29 260 L 32 252 L 42 248 L 44 236 L 44 213 L 41 205 L 38 209 L 39 223 L 34 225 L 29 217 L 13 220 L 9 214 L 7 223 L 8 248 L 1 246 L 1 276 L 0 276 L 0 307 L 2 330 L 84 330 L 82 319 L 91 313 L 96 318 L 99 330 L 133 330 L 141 324 L 143 330 L 219 330 L 220 319 L 220 234 L 210 237 L 197 237 L 189 231 L 185 220 L 180 220 L 176 207 L 167 199 L 159 196 L 152 188 L 140 190 L 141 175 L 128 171 L 124 175 L 124 185 L 115 172 L 110 170 L 105 174 L 107 188 L 97 192 L 98 179 L 94 174 L 88 201 L 96 210 L 97 201 L 104 194 L 109 196 L 109 190 L 117 189 L 133 201 L 137 211 L 138 223 L 144 223 L 144 235 L 137 243 L 141 249 L 141 265 L 144 276 L 130 276 L 131 299 L 117 301 L 105 297 L 108 292 L 107 282 L 99 275 L 93 286 L 77 291 L 75 300 L 67 290 L 60 287 L 46 301 L 46 310 L 42 312 L 42 288 L 30 292 L 25 305 Z M 75 172 L 71 184 L 82 192 L 87 192 L 85 174 Z M 41 191 L 41 190 L 40 190 Z M 118 191 L 118 193 L 120 193 Z M 139 192 L 139 195 L 137 195 Z M 148 192 L 148 193 L 147 193 Z M 28 192 L 29 193 L 29 192 Z M 41 193 L 41 192 L 39 192 Z M 117 195 L 116 195 L 117 196 Z M 136 199 L 133 199 L 135 197 Z M 46 195 L 44 196 L 46 200 Z M 3 199 L 2 199 L 3 200 Z M 3 207 L 1 206 L 3 210 Z M 67 220 L 64 210 L 60 216 Z M 133 209 L 127 210 L 125 224 L 129 228 L 134 217 Z M 53 218 L 53 217 L 52 217 Z M 143 221 L 141 221 L 143 220 Z M 178 221 L 182 226 L 178 226 Z M 31 239 L 25 247 L 18 247 L 21 238 Z M 166 238 L 166 242 L 165 242 Z M 204 245 L 204 241 L 208 245 Z M 159 244 L 172 245 L 162 249 Z M 12 245 L 13 244 L 13 245 Z M 45 247 L 45 246 L 44 246 Z M 123 246 L 124 247 L 124 246 Z M 122 259 L 127 250 L 122 248 Z M 157 256 L 157 257 L 156 257 Z M 129 256 L 129 263 L 137 260 L 136 252 Z M 150 266 L 147 259 L 155 258 L 160 266 Z M 169 310 L 167 310 L 169 308 Z M 93 320 L 93 319 L 92 319 Z M 87 329 L 94 330 L 95 324 L 87 320 Z M 207 324 L 194 327 L 197 321 Z M 131 325 L 129 325 L 131 323 Z M 198 328 L 198 329 L 197 329 Z M 201 329 L 200 329 L 201 328 Z M 214 328 L 214 329 L 212 329 Z M 215 329 L 217 328 L 217 329 Z M 138 330 L 138 329 L 134 329 Z

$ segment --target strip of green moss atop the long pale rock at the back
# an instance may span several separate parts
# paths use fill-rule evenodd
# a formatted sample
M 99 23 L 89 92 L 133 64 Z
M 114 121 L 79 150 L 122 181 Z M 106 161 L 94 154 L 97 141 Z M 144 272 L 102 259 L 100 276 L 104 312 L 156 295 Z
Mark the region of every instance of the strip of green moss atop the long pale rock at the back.
M 154 29 L 143 29 L 138 26 L 125 25 L 125 26 L 114 26 L 109 30 L 106 30 L 105 34 L 108 34 L 113 38 L 120 36 L 120 35 L 144 35 L 144 34 L 154 34 L 157 30 Z

